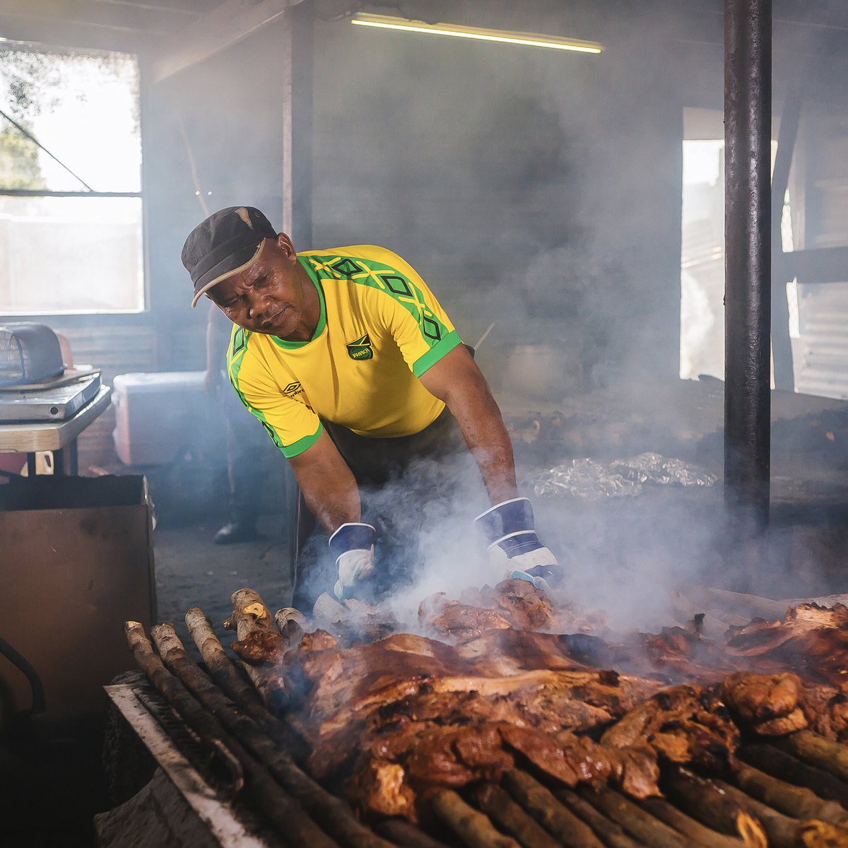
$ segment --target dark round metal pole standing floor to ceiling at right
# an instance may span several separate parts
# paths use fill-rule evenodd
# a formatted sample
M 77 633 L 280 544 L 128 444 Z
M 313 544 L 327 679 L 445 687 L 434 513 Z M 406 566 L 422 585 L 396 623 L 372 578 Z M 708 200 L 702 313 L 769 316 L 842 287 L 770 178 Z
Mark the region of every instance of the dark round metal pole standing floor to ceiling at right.
M 771 0 L 725 0 L 724 497 L 754 533 L 769 505 L 771 103 Z

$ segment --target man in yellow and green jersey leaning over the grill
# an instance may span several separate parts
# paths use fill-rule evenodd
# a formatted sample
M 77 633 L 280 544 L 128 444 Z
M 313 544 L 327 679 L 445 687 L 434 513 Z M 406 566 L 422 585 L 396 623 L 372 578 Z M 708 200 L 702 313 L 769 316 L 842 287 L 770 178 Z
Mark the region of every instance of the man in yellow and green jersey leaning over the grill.
M 360 485 L 403 471 L 410 455 L 438 454 L 455 424 L 492 504 L 476 520 L 490 554 L 511 577 L 545 589 L 561 582 L 530 502 L 518 497 L 510 438 L 483 374 L 404 259 L 373 245 L 298 255 L 259 209 L 243 206 L 198 225 L 182 263 L 192 307 L 205 294 L 235 325 L 230 380 L 330 537 L 339 599 L 368 594 L 381 572 Z

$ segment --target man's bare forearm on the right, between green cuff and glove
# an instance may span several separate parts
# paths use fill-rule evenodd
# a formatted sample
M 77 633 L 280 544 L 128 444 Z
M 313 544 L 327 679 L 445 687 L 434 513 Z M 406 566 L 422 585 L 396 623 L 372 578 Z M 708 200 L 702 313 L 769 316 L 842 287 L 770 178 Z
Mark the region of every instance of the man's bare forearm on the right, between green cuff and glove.
M 512 443 L 498 404 L 471 354 L 460 344 L 421 375 L 424 388 L 444 400 L 460 425 L 492 504 L 516 498 Z

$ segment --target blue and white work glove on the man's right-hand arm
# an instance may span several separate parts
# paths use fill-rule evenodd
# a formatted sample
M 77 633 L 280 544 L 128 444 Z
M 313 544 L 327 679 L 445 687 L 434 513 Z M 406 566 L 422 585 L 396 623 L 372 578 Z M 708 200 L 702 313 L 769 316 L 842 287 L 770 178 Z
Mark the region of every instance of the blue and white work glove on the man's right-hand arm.
M 538 540 L 533 506 L 527 498 L 513 498 L 494 505 L 474 519 L 488 544 L 494 565 L 505 566 L 506 577 L 527 580 L 550 592 L 565 579 L 556 557 Z

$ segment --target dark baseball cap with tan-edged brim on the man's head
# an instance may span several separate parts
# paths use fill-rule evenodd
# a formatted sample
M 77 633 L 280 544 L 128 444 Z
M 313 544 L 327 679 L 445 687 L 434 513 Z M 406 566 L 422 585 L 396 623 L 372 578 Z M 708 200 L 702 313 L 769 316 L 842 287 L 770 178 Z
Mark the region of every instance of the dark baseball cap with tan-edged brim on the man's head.
M 182 246 L 194 283 L 192 309 L 211 287 L 251 265 L 265 238 L 276 238 L 276 230 L 253 206 L 228 206 L 198 224 Z

